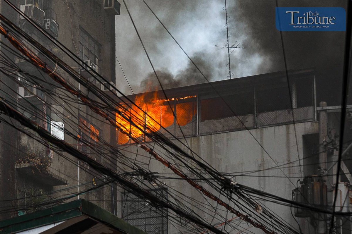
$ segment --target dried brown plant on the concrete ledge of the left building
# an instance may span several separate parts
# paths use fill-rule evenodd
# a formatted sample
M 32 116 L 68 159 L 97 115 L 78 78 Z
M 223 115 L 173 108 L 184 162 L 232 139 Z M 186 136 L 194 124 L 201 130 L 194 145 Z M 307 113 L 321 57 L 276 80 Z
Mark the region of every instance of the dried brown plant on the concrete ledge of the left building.
M 51 165 L 50 158 L 46 154 L 45 148 L 33 149 L 31 152 L 21 155 L 16 163 L 31 163 L 39 173 L 49 173 L 49 166 Z

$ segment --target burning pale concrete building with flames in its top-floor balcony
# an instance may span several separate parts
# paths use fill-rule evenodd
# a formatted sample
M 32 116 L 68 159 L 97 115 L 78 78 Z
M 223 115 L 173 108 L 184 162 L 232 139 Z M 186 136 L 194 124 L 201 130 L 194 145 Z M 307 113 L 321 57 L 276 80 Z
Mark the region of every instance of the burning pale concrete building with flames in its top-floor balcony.
M 309 136 L 319 133 L 314 69 L 289 71 L 288 77 L 285 72 L 275 72 L 202 83 L 166 89 L 165 93 L 166 97 L 162 91 L 128 96 L 124 99 L 126 108 L 116 114 L 119 127 L 116 144 L 131 159 L 146 163 L 151 172 L 172 174 L 158 161 L 151 163 L 150 155 L 138 151 L 138 145 L 129 135 L 142 144 L 150 142 L 143 134 L 145 131 L 162 133 L 176 144 L 178 141 L 173 140 L 176 138 L 187 142 L 186 145 L 217 171 L 231 173 L 241 184 L 286 199 L 291 199 L 288 191 L 295 188 L 296 180 L 292 177 L 315 173 L 300 163 L 311 153 Z M 140 108 L 130 105 L 128 100 Z M 134 124 L 122 116 L 130 116 Z M 178 145 L 187 152 L 187 147 Z M 161 147 L 158 150 L 163 152 Z M 287 166 L 279 169 L 277 165 Z M 267 170 L 271 167 L 276 169 Z M 164 181 L 197 201 L 204 199 L 182 180 Z M 138 209 L 145 213 L 145 206 L 138 205 L 141 202 L 135 196 L 127 199 L 128 192 L 120 196 L 121 217 L 127 222 L 146 231 L 149 231 L 145 225 L 148 223 L 158 223 L 157 228 L 163 230 L 160 233 L 176 231 L 163 222 L 160 212 L 155 217 L 148 213 L 142 217 L 144 224 L 138 223 L 141 218 L 134 213 Z M 136 209 L 124 209 L 123 204 Z M 273 204 L 266 205 L 275 208 Z M 289 207 L 275 212 L 289 223 L 295 223 Z M 213 218 L 210 214 L 203 215 L 209 222 Z

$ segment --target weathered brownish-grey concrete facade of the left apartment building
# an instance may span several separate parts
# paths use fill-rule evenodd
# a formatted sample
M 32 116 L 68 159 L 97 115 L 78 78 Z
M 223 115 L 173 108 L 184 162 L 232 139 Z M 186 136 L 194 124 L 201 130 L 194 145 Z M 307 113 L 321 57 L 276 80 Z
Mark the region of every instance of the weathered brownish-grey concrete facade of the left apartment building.
M 21 4 L 33 3 L 33 1 L 13 2 L 18 7 L 20 7 Z M 85 57 L 83 56 L 82 46 L 80 46 L 83 44 L 80 36 L 81 32 L 88 35 L 89 40 L 92 41 L 92 43 L 94 42 L 96 47 L 93 53 L 95 52 L 94 56 L 96 57 L 96 61 L 99 62 L 99 74 L 108 81 L 115 81 L 115 15 L 110 14 L 103 9 L 103 1 L 34 0 L 34 4 L 36 4 L 40 9 L 43 8 L 43 10 L 45 10 L 44 5 L 47 5 L 48 8 L 50 8 L 50 17 L 55 18 L 56 23 L 59 25 L 57 40 L 83 60 Z M 64 53 L 56 48 L 52 42 L 34 30 L 31 25 L 24 23 L 24 20 L 20 20 L 18 14 L 15 13 L 9 6 L 6 6 L 5 2 L 1 2 L 0 9 L 2 13 L 7 12 L 7 14 L 12 15 L 13 22 L 19 22 L 21 29 L 29 33 L 31 36 L 34 36 L 40 44 L 44 45 L 51 52 L 56 54 L 69 66 L 75 68 L 77 72 L 79 71 L 79 66 L 77 63 L 69 59 L 67 55 L 64 55 Z M 4 40 L 4 38 L 2 38 L 2 40 Z M 61 69 L 57 68 L 56 71 L 61 72 L 63 74 L 63 78 L 67 79 L 69 82 L 73 82 L 78 88 L 78 83 L 62 72 Z M 38 75 L 39 73 L 34 74 Z M 6 80 L 6 77 L 1 74 L 1 79 Z M 14 86 L 16 86 L 16 84 L 14 84 Z M 15 89 L 18 90 L 18 85 Z M 54 92 L 60 95 L 62 91 L 60 88 L 56 88 L 54 89 Z M 72 98 L 77 99 L 77 97 Z M 87 106 L 78 106 L 77 101 L 72 103 L 62 103 L 62 100 L 58 100 L 50 96 L 46 96 L 45 99 L 47 102 L 45 108 L 48 108 L 48 113 L 50 113 L 48 125 L 50 125 L 51 121 L 63 123 L 65 126 L 64 140 L 66 142 L 75 147 L 77 146 L 77 140 L 70 138 L 66 132 L 69 131 L 79 134 L 78 121 L 80 118 L 84 118 L 89 122 L 89 124 L 92 126 L 94 125 L 96 129 L 99 129 L 99 134 L 101 137 L 101 139 L 99 139 L 100 141 L 110 142 L 111 127 L 99 121 L 101 120 L 101 118 L 99 118 L 100 116 L 93 113 Z M 19 101 L 21 102 L 23 100 L 19 99 Z M 38 102 L 38 100 L 34 99 L 33 103 L 34 105 L 43 105 Z M 62 105 L 64 105 L 64 107 L 68 107 L 68 109 L 71 108 L 73 112 L 67 112 L 64 110 Z M 78 111 L 78 109 L 80 111 Z M 64 197 L 68 194 L 74 194 L 87 188 L 92 188 L 94 186 L 92 180 L 95 176 L 101 178 L 100 174 L 93 172 L 87 165 L 82 165 L 82 163 L 79 163 L 80 165 L 77 166 L 77 160 L 73 156 L 65 154 L 64 158 L 51 152 L 48 147 L 42 146 L 30 137 L 31 134 L 34 134 L 33 132 L 25 130 L 28 134 L 30 134 L 26 135 L 24 133 L 19 133 L 13 128 L 5 125 L 1 125 L 0 127 L 4 128 L 4 130 L 1 131 L 1 134 L 6 132 L 6 135 L 4 135 L 2 139 L 8 141 L 8 145 L 6 145 L 6 141 L 0 143 L 0 176 L 4 176 L 4 178 L 1 177 L 0 185 L 2 188 L 7 188 L 1 189 L 4 193 L 0 192 L 0 200 L 21 200 L 23 196 L 21 196 L 20 193 L 25 193 L 24 189 L 22 189 L 24 187 L 30 189 L 35 188 L 37 191 L 36 193 L 39 193 L 39 195 L 43 192 L 50 193 L 52 198 Z M 20 163 L 18 161 L 19 158 L 21 158 L 21 155 L 23 156 L 33 152 L 34 154 L 44 155 L 45 158 L 49 157 L 48 153 L 50 152 L 50 156 L 53 156 L 48 162 L 48 170 L 51 176 L 45 177 L 38 172 L 32 174 L 28 173 L 28 171 L 31 171 L 31 165 L 24 166 L 24 163 Z M 68 161 L 66 157 L 72 160 L 72 162 Z M 96 159 L 101 160 L 99 157 Z M 21 165 L 19 166 L 19 164 Z M 115 165 L 108 166 L 115 168 Z M 43 178 L 46 178 L 46 180 L 43 180 Z M 95 180 L 97 179 L 95 178 Z M 98 183 L 98 180 L 96 183 Z M 55 193 L 56 190 L 62 191 Z M 107 187 L 94 193 L 82 195 L 80 198 L 92 200 L 97 205 L 114 213 L 112 196 L 113 190 L 111 187 Z M 72 199 L 77 199 L 77 196 Z M 17 206 L 21 207 L 21 204 L 17 202 L 11 204 L 11 207 L 13 208 Z M 20 214 L 21 212 L 13 213 L 14 216 Z M 9 217 L 6 215 L 5 217 L 1 216 L 1 218 Z

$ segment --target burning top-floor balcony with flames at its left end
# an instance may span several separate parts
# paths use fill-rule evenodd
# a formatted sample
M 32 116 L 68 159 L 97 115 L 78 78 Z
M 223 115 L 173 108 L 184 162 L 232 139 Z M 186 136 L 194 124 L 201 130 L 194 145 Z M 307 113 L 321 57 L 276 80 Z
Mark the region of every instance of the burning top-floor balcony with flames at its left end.
M 120 109 L 116 123 L 122 132 L 148 142 L 144 132 L 159 132 L 173 139 L 314 121 L 313 70 L 289 74 L 289 88 L 285 73 L 276 72 L 215 81 L 212 86 L 204 83 L 166 89 L 167 100 L 162 99 L 161 91 L 131 95 L 128 98 L 147 115 L 131 105 Z M 127 134 L 117 130 L 116 135 L 119 145 L 133 143 Z

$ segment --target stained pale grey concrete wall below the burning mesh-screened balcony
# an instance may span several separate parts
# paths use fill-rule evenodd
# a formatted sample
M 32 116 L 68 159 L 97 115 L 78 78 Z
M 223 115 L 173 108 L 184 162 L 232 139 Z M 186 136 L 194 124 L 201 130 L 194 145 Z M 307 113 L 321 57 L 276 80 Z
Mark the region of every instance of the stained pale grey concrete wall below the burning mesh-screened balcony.
M 298 140 L 298 153 L 300 158 L 303 158 L 303 135 L 315 134 L 319 131 L 318 122 L 304 122 L 297 123 L 296 134 Z M 260 145 L 270 154 L 271 158 L 266 154 L 259 143 L 249 134 L 251 132 L 258 140 Z M 193 138 L 187 138 L 187 142 L 191 149 L 197 153 L 202 159 L 208 162 L 219 172 L 224 173 L 238 173 L 246 171 L 263 170 L 277 165 L 285 165 L 283 172 L 280 169 L 264 170 L 256 173 L 251 173 L 250 176 L 236 176 L 235 180 L 238 183 L 250 186 L 252 188 L 260 189 L 265 192 L 281 196 L 286 199 L 291 199 L 291 191 L 296 186 L 298 178 L 286 178 L 290 176 L 301 176 L 301 171 L 298 163 L 298 154 L 296 147 L 295 131 L 294 126 L 282 125 L 274 127 L 265 127 L 252 129 L 248 131 L 237 131 L 220 133 L 206 136 L 198 136 Z M 184 140 L 182 140 L 184 142 Z M 179 142 L 174 142 L 186 151 L 186 147 L 181 146 Z M 129 152 L 128 152 L 129 151 Z M 137 147 L 131 145 L 126 149 L 122 150 L 128 157 L 136 157 Z M 160 148 L 155 148 L 156 152 L 161 151 Z M 144 156 L 137 156 L 137 160 L 148 163 L 150 155 L 139 149 L 138 154 Z M 187 160 L 185 160 L 187 161 Z M 274 162 L 275 161 L 275 162 Z M 291 163 L 290 163 L 291 162 Z M 188 161 L 189 163 L 189 161 Z M 291 167 L 287 167 L 291 166 Z M 162 165 L 159 161 L 151 159 L 149 164 L 151 172 L 159 173 L 170 173 L 168 175 L 177 177 L 171 170 Z M 303 167 L 301 167 L 303 173 Z M 285 173 L 285 175 L 284 175 Z M 279 176 L 279 177 L 265 177 L 265 176 Z M 205 202 L 203 196 L 191 187 L 187 182 L 182 180 L 165 179 L 162 180 L 171 188 L 191 196 L 196 201 Z M 208 186 L 205 186 L 207 189 Z M 211 189 L 210 189 L 211 190 Z M 170 190 L 171 191 L 171 190 Z M 171 199 L 169 197 L 169 199 Z M 222 198 L 226 199 L 226 198 Z M 171 199 L 172 200 L 172 199 Z M 215 203 L 211 202 L 215 207 Z M 289 207 L 280 206 L 272 203 L 265 203 L 270 209 L 272 209 L 278 216 L 283 220 L 288 221 L 291 225 L 296 226 L 296 222 L 293 220 Z M 121 207 L 118 206 L 119 212 Z M 207 219 L 209 222 L 213 218 L 213 212 L 209 214 L 200 214 L 202 217 Z M 224 214 L 224 213 L 223 213 Z M 232 217 L 232 215 L 228 215 Z M 302 227 L 304 227 L 304 221 L 302 221 Z M 169 233 L 178 232 L 173 225 L 169 223 Z M 297 227 L 297 226 L 296 226 Z M 262 233 L 260 230 L 251 228 L 251 232 Z

